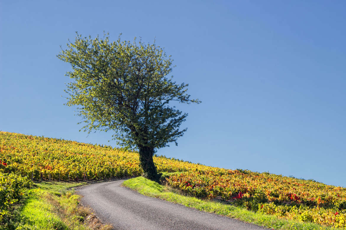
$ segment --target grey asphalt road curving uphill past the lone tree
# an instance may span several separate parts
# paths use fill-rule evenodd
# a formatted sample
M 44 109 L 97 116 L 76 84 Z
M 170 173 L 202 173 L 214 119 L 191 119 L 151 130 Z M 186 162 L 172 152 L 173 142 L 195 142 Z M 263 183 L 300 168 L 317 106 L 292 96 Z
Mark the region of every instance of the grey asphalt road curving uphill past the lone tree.
M 92 208 L 114 229 L 265 229 L 225 216 L 202 212 L 181 204 L 146 197 L 121 187 L 124 180 L 81 187 L 81 203 Z

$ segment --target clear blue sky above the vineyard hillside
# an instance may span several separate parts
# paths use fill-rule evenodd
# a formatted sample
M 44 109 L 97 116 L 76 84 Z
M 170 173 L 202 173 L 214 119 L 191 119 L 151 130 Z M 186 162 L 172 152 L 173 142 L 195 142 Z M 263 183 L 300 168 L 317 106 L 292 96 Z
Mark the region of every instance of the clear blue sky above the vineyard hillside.
M 116 146 L 64 106 L 75 31 L 165 47 L 201 104 L 157 154 L 346 187 L 346 2 L 1 0 L 0 130 Z

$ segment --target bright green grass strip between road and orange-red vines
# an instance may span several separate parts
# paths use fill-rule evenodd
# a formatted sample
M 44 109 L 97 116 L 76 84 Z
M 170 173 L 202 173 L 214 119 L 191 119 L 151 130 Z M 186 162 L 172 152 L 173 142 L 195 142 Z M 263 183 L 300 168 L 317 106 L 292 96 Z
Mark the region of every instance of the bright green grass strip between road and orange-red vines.
M 172 190 L 169 187 L 163 186 L 144 177 L 132 178 L 124 181 L 123 186 L 136 190 L 139 193 L 171 201 L 174 203 L 183 204 L 186 207 L 192 207 L 201 211 L 216 213 L 230 218 L 236 218 L 241 221 L 257 224 L 271 229 L 289 229 L 289 230 L 312 230 L 312 229 L 335 229 L 323 227 L 315 223 L 303 223 L 294 220 L 286 220 L 275 216 L 255 213 L 244 208 L 231 206 L 229 204 L 201 200 L 191 196 L 180 194 L 179 191 Z

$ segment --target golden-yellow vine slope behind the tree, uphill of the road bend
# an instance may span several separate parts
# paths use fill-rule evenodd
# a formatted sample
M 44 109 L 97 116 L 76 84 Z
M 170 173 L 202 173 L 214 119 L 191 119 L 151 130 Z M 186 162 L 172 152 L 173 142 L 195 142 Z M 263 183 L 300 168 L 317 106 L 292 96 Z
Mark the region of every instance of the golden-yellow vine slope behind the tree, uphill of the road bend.
M 0 160 L 7 164 L 6 171 L 28 177 L 32 174 L 36 180 L 40 180 L 41 173 L 44 179 L 55 180 L 142 174 L 135 152 L 10 132 L 0 132 Z M 165 157 L 154 157 L 154 162 L 158 171 L 165 172 L 218 169 Z

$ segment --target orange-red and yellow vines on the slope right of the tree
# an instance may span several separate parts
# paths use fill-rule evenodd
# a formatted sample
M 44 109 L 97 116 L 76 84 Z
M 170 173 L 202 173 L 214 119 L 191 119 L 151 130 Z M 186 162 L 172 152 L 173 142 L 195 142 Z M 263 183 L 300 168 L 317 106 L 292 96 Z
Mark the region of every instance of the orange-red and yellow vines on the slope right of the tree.
M 188 171 L 167 184 L 263 214 L 346 228 L 346 188 L 248 170 Z

